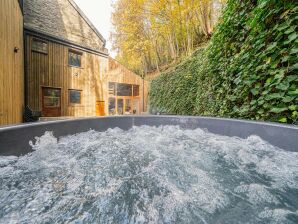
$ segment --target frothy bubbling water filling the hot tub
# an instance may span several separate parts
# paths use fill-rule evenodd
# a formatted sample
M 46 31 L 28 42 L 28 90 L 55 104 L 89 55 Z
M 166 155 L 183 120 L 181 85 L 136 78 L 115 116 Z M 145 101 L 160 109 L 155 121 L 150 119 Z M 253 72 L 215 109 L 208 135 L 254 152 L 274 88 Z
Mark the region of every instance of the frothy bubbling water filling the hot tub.
M 298 153 L 178 126 L 90 130 L 0 157 L 0 223 L 297 223 Z

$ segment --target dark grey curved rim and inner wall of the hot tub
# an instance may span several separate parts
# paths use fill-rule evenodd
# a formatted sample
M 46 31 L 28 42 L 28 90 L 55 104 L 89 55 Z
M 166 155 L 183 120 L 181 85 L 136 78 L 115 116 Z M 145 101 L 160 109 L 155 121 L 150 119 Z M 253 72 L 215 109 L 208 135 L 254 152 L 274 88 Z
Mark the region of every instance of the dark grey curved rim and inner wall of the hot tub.
M 247 138 L 258 135 L 269 143 L 287 151 L 298 151 L 298 127 L 276 123 L 254 122 L 192 116 L 119 116 L 96 117 L 64 121 L 40 122 L 0 128 L 0 155 L 23 155 L 32 149 L 30 140 L 52 131 L 61 137 L 90 129 L 105 131 L 119 127 L 128 130 L 132 126 L 179 125 L 185 129 L 202 128 L 209 132 Z

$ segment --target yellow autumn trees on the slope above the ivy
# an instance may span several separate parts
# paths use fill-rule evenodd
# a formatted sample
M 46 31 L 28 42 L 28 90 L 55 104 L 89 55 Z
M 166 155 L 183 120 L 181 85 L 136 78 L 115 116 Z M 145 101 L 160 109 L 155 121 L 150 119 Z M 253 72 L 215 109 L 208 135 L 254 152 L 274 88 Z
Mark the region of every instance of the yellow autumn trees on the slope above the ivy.
M 140 75 L 190 55 L 211 36 L 220 0 L 118 0 L 111 35 L 117 60 Z

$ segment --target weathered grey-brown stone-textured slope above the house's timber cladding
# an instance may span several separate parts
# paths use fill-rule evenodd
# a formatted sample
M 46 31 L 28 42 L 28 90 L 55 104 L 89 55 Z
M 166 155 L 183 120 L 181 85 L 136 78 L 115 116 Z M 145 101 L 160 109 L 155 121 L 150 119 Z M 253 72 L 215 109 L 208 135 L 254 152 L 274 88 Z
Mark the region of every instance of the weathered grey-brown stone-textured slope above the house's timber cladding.
M 72 0 L 25 0 L 24 26 L 106 53 L 105 40 Z

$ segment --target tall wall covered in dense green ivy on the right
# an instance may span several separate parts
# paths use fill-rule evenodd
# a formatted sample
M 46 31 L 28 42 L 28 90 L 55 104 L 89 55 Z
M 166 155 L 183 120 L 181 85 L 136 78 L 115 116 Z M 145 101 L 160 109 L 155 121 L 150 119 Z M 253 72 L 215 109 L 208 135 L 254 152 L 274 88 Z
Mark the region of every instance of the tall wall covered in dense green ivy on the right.
M 297 24 L 297 0 L 229 0 L 208 46 L 152 81 L 151 109 L 297 124 Z

